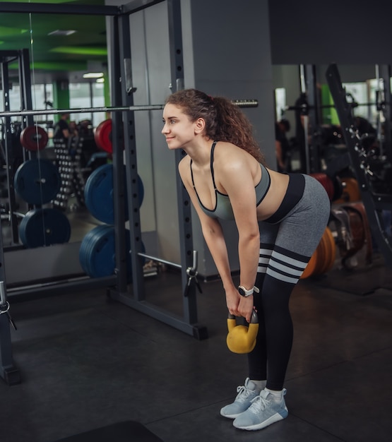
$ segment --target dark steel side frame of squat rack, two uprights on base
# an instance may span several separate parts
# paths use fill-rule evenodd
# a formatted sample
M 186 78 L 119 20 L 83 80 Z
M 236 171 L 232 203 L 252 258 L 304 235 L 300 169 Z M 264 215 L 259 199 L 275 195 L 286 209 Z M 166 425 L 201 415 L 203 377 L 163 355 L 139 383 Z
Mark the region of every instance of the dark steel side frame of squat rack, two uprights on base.
M 131 4 L 129 4 L 131 5 Z M 208 338 L 206 327 L 197 323 L 196 306 L 196 288 L 191 285 L 186 291 L 188 284 L 187 268 L 191 268 L 193 260 L 193 241 L 191 234 L 191 204 L 184 186 L 177 174 L 177 201 L 179 208 L 179 237 L 180 237 L 180 256 L 181 256 L 181 274 L 182 274 L 182 293 L 186 291 L 186 297 L 183 301 L 183 317 L 174 315 L 174 313 L 165 311 L 155 306 L 145 299 L 145 287 L 143 276 L 143 260 L 141 259 L 141 222 L 139 213 L 139 199 L 137 190 L 137 159 L 136 159 L 136 136 L 134 125 L 133 96 L 131 85 L 131 35 L 129 30 L 129 13 L 132 11 L 127 8 L 126 13 L 112 18 L 111 42 L 117 42 L 117 48 L 112 47 L 112 53 L 116 54 L 117 60 L 122 60 L 121 66 L 114 66 L 111 78 L 112 97 L 114 107 L 124 105 L 122 112 L 122 124 L 125 145 L 126 173 L 123 176 L 123 155 L 120 140 L 119 127 L 121 126 L 121 116 L 114 114 L 112 133 L 113 143 L 113 167 L 114 167 L 114 222 L 115 222 L 115 241 L 116 241 L 116 263 L 117 263 L 117 285 L 109 287 L 107 294 L 112 299 L 122 302 L 131 308 L 141 311 L 163 323 L 167 323 L 184 333 L 193 335 L 196 339 Z M 170 39 L 170 60 L 172 87 L 179 90 L 184 87 L 184 68 L 182 59 L 182 29 L 181 29 L 181 10 L 179 0 L 167 0 L 167 12 L 169 17 L 169 39 Z M 115 33 L 118 30 L 118 34 Z M 121 81 L 119 81 L 121 78 Z M 120 104 L 121 103 L 121 104 Z M 160 107 L 160 109 L 162 109 Z M 176 153 L 176 162 L 181 159 L 182 153 Z M 126 180 L 126 189 L 128 193 L 129 207 L 129 227 L 131 236 L 131 268 L 132 268 L 132 293 L 129 292 L 126 285 L 126 250 L 125 244 L 125 222 L 123 195 L 119 189 L 124 189 L 121 184 Z

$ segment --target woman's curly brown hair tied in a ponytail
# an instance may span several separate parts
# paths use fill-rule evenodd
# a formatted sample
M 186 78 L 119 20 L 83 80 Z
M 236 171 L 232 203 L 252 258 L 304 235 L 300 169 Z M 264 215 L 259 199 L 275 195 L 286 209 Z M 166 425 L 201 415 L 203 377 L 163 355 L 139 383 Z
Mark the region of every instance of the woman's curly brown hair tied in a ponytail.
M 233 143 L 266 165 L 259 144 L 253 136 L 253 126 L 249 119 L 227 98 L 211 97 L 196 89 L 184 89 L 169 95 L 165 104 L 181 107 L 191 121 L 203 118 L 209 138 Z

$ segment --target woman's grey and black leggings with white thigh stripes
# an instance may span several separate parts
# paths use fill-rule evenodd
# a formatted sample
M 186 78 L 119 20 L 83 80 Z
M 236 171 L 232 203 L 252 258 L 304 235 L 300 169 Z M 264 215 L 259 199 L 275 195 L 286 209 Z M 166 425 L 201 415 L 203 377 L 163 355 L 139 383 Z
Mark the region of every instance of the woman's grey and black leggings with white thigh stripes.
M 248 354 L 249 378 L 266 379 L 271 390 L 282 390 L 290 359 L 290 294 L 319 245 L 331 211 L 319 181 L 308 175 L 304 179 L 302 197 L 283 219 L 275 224 L 259 222 L 256 287 L 260 293 L 254 294 L 254 305 L 260 325 L 256 347 Z

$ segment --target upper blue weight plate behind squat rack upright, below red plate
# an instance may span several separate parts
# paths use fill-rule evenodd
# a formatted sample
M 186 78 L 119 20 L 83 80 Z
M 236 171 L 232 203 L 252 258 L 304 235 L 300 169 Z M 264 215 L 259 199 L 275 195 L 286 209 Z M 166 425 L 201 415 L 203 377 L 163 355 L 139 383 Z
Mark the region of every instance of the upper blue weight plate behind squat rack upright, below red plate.
M 129 220 L 126 185 L 124 185 L 124 195 L 126 201 L 125 220 Z M 93 217 L 106 224 L 114 224 L 113 165 L 102 165 L 90 174 L 85 182 L 84 197 L 85 205 Z M 144 198 L 144 186 L 139 176 L 138 198 L 139 206 L 141 206 Z

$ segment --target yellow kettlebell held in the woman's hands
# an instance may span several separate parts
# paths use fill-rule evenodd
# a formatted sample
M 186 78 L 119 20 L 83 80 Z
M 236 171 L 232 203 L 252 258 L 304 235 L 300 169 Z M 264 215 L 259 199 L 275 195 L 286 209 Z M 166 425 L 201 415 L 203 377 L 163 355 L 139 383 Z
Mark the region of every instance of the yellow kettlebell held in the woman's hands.
M 227 333 L 226 343 L 231 352 L 244 354 L 254 349 L 257 332 L 259 331 L 259 318 L 256 310 L 252 313 L 249 325 L 237 325 L 235 316 L 229 313 L 227 328 L 229 333 Z

